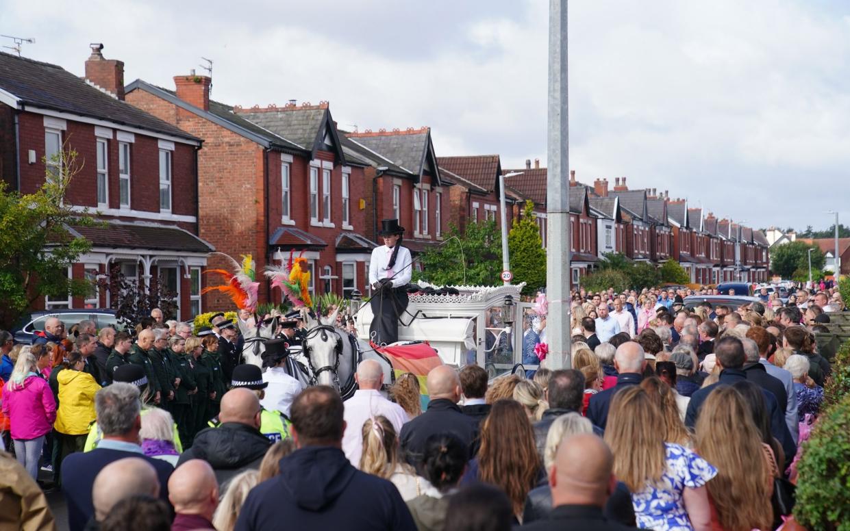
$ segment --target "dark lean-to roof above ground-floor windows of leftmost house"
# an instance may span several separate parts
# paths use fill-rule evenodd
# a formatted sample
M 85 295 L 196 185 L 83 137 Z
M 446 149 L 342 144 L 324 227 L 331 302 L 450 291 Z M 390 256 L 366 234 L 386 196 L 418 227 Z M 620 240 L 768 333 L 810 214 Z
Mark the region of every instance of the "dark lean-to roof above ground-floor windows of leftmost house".
M 212 252 L 215 247 L 188 230 L 152 223 L 109 222 L 105 226 L 69 227 L 94 247 L 153 251 Z

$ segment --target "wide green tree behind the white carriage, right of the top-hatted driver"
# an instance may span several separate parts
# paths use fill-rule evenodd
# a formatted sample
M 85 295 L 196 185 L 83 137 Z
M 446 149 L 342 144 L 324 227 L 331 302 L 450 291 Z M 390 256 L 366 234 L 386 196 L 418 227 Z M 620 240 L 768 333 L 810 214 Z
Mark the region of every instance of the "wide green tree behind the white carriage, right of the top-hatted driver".
M 495 221 L 467 223 L 461 232 L 451 225 L 442 245 L 428 248 L 419 257 L 422 271 L 414 280 L 435 285 L 499 285 L 501 235 Z

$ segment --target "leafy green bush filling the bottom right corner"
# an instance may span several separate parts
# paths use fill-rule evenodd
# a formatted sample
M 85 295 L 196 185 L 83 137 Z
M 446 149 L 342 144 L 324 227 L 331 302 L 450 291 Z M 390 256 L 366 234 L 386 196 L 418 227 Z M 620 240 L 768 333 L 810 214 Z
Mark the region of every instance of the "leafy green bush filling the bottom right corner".
M 850 531 L 850 396 L 822 410 L 797 463 L 794 517 L 809 529 Z

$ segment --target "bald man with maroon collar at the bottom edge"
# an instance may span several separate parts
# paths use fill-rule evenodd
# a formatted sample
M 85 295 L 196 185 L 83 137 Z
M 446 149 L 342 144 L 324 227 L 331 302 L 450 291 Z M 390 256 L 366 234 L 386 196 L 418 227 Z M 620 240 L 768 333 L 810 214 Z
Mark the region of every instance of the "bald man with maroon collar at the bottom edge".
M 218 506 L 218 482 L 212 466 L 192 459 L 177 467 L 168 478 L 168 500 L 174 506 L 171 531 L 213 529 L 212 514 Z

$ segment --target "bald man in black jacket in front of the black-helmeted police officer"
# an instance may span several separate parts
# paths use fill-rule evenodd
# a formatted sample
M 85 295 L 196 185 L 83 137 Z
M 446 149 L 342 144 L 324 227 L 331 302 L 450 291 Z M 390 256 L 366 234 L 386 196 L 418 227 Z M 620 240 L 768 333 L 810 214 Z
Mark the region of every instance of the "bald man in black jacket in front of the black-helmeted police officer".
M 202 459 L 212 466 L 218 484 L 246 468 L 257 470 L 271 441 L 260 432 L 260 401 L 251 389 L 235 387 L 221 398 L 217 427 L 195 435 L 192 447 L 177 462 Z

